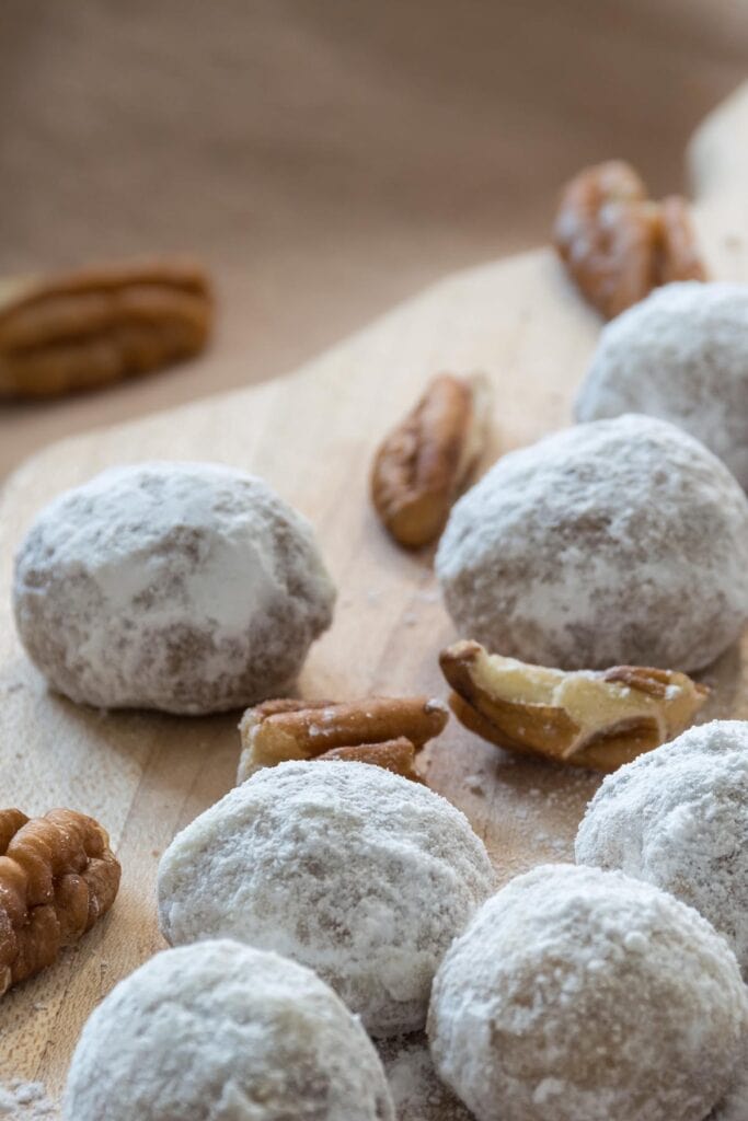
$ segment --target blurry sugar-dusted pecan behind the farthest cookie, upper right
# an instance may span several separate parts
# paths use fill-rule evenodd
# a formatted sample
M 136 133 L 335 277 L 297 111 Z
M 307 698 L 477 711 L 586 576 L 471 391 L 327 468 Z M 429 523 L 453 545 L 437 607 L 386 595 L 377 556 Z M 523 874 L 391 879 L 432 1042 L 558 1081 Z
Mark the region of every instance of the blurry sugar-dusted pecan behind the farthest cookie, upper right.
M 580 172 L 564 188 L 554 242 L 587 299 L 607 318 L 673 280 L 703 280 L 687 204 L 647 196 L 622 160 Z

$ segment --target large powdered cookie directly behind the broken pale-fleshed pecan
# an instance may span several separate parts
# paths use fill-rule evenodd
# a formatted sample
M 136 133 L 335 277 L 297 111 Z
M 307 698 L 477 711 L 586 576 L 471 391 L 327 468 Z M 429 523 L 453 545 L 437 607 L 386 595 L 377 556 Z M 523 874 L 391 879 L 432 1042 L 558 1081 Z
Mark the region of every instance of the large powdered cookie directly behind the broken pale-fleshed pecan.
M 460 632 L 490 650 L 699 669 L 748 618 L 748 501 L 673 425 L 578 425 L 506 455 L 458 502 L 436 572 Z

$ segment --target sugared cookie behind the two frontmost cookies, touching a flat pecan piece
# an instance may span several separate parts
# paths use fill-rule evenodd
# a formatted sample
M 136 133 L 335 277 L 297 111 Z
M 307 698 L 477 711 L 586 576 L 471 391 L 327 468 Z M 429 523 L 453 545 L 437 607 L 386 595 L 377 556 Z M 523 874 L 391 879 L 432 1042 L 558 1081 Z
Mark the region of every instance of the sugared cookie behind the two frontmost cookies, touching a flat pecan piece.
M 277 949 L 389 1036 L 423 1027 L 436 966 L 492 884 L 468 819 L 427 787 L 367 763 L 288 762 L 177 834 L 158 908 L 167 942 Z

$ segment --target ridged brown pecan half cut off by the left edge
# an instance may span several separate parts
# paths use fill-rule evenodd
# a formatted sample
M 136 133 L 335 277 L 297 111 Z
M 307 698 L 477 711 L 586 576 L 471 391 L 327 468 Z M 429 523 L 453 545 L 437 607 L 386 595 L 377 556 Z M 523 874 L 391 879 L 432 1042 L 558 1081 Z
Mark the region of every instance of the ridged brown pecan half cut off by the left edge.
M 0 994 L 50 965 L 114 901 L 120 865 L 92 817 L 0 810 Z

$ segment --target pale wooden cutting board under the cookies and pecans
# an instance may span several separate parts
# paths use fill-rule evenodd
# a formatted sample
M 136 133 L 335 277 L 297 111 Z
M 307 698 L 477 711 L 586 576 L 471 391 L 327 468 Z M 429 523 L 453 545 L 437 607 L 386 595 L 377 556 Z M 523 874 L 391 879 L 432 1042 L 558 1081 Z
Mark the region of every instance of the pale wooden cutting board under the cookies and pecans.
M 712 276 L 748 280 L 748 86 L 691 149 L 696 220 Z M 611 154 L 612 155 L 612 154 Z M 293 323 L 288 324 L 293 331 Z M 486 370 L 498 455 L 570 423 L 570 401 L 600 330 L 553 253 L 459 274 L 296 373 L 56 444 L 8 482 L 0 506 L 1 803 L 75 807 L 109 830 L 123 867 L 110 916 L 54 967 L 2 1000 L 0 1081 L 59 1093 L 81 1027 L 123 975 L 163 945 L 154 881 L 174 833 L 232 785 L 238 715 L 177 719 L 79 707 L 47 692 L 10 613 L 12 554 L 36 511 L 114 463 L 214 460 L 264 475 L 307 515 L 339 587 L 335 621 L 304 669 L 304 695 L 445 696 L 436 655 L 455 636 L 431 554 L 398 550 L 369 501 L 372 451 L 440 370 Z M 214 361 L 220 362 L 220 350 Z M 739 650 L 707 675 L 707 715 L 748 716 Z M 517 761 L 454 721 L 425 753 L 434 789 L 460 806 L 502 879 L 566 860 L 597 779 Z

